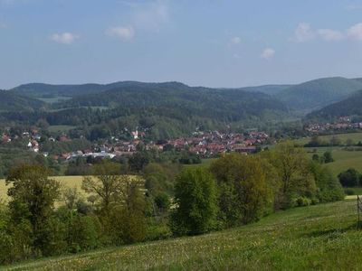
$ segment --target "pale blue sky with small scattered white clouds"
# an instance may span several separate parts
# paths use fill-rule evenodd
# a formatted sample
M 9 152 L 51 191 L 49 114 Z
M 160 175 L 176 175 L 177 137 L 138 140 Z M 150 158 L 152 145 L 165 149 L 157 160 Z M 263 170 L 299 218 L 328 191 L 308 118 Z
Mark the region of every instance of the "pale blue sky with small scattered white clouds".
M 0 89 L 362 77 L 362 0 L 0 0 Z

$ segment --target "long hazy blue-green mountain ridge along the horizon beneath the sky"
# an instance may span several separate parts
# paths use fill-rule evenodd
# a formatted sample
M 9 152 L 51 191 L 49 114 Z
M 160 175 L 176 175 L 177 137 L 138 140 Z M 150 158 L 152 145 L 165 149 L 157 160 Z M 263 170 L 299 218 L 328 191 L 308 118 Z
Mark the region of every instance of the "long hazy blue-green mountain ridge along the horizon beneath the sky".
M 295 85 L 263 85 L 255 87 L 243 88 L 223 88 L 213 89 L 205 87 L 189 87 L 186 84 L 170 81 L 161 83 L 145 83 L 138 81 L 119 81 L 110 84 L 80 84 L 80 85 L 50 85 L 42 83 L 32 83 L 18 86 L 10 91 L 28 96 L 31 98 L 72 98 L 69 102 L 73 106 L 78 105 L 102 105 L 108 104 L 102 97 L 96 97 L 100 100 L 95 100 L 95 95 L 102 93 L 108 97 L 115 94 L 110 92 L 115 89 L 129 89 L 134 91 L 133 95 L 138 96 L 139 89 L 153 89 L 157 91 L 168 91 L 171 93 L 177 91 L 204 91 L 205 89 L 220 91 L 224 93 L 234 91 L 247 91 L 250 93 L 264 93 L 277 100 L 281 101 L 291 111 L 299 111 L 301 114 L 308 114 L 313 110 L 318 110 L 335 102 L 341 101 L 353 95 L 357 90 L 362 89 L 362 79 L 346 79 L 342 77 L 314 79 L 301 84 Z M 133 90 L 132 90 L 133 89 Z M 110 91 L 110 92 L 109 92 Z M 171 91 L 171 92 L 170 92 Z M 176 94 L 175 92 L 173 92 Z M 131 93 L 129 93 L 131 95 Z M 166 93 L 167 95 L 167 93 Z M 90 97 L 87 97 L 90 96 Z M 162 97 L 160 97 L 162 98 Z M 90 99 L 92 100 L 90 102 Z M 117 99 L 117 98 L 116 98 Z M 58 101 L 55 99 L 55 101 Z M 61 99 L 59 100 L 61 101 Z

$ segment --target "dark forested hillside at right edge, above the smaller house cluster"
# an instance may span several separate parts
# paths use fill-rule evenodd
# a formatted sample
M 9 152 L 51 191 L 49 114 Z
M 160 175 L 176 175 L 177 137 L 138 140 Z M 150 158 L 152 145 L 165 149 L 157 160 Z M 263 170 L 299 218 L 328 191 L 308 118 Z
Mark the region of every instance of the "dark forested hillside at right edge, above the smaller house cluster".
M 362 90 L 338 103 L 310 113 L 307 120 L 333 121 L 342 116 L 362 116 Z

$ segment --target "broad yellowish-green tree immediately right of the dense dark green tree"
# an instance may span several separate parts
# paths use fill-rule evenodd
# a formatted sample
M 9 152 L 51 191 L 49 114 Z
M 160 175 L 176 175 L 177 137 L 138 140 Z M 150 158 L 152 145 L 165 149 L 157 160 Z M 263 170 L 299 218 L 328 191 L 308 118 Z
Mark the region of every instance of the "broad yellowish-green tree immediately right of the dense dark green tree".
M 271 191 L 258 157 L 226 155 L 211 166 L 220 192 L 219 208 L 225 227 L 259 220 Z

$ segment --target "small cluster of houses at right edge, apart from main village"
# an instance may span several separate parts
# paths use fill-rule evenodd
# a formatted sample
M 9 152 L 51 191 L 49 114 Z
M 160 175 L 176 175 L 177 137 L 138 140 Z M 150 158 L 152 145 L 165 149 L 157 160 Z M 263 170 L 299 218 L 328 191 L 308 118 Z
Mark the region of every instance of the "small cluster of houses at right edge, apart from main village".
M 305 127 L 305 130 L 310 133 L 348 129 L 362 129 L 362 122 L 352 122 L 351 117 L 339 117 L 335 123 L 316 123 Z

